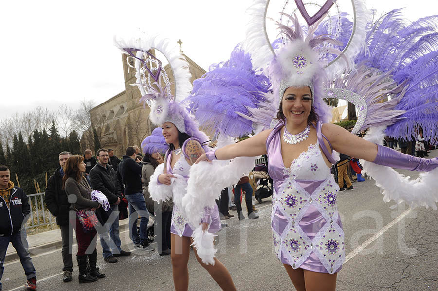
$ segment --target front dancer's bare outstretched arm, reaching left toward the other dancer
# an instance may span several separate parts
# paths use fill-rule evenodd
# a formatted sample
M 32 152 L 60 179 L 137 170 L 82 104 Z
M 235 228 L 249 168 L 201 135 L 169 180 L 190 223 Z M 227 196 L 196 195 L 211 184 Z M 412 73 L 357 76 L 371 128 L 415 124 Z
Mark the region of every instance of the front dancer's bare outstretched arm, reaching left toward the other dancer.
M 254 137 L 217 149 L 214 155 L 209 152 L 209 155 L 211 154 L 213 157 L 216 156 L 218 160 L 230 160 L 239 156 L 259 156 L 267 154 L 266 140 L 271 131 L 272 129 L 264 130 Z M 207 154 L 202 154 L 196 163 L 207 159 Z

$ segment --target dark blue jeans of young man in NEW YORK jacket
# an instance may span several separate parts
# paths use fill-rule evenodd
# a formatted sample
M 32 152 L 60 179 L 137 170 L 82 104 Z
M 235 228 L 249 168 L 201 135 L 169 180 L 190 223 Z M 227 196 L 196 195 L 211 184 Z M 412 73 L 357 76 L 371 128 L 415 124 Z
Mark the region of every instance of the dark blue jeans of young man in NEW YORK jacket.
M 4 271 L 3 263 L 9 242 L 12 242 L 12 246 L 17 251 L 18 257 L 20 257 L 21 266 L 23 266 L 26 278 L 30 279 L 37 277 L 34 264 L 32 264 L 32 259 L 29 256 L 26 230 L 23 228 L 18 233 L 14 233 L 11 236 L 0 237 L 0 290 L 2 289 L 1 278 L 3 277 Z

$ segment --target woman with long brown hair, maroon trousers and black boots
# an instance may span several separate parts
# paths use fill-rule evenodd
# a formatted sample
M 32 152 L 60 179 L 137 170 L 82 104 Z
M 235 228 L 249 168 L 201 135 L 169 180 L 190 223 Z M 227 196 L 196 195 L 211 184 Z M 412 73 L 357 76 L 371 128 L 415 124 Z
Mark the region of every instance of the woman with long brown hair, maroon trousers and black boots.
M 63 188 L 67 194 L 68 201 L 71 203 L 70 209 L 75 211 L 91 210 L 95 211 L 101 205 L 97 201 L 91 200 L 91 186 L 84 176 L 84 158 L 80 155 L 73 155 L 68 158 L 64 166 Z M 93 228 L 91 231 L 84 229 L 81 221 L 76 215 L 76 240 L 77 240 L 77 264 L 79 267 L 79 283 L 89 283 L 97 281 L 98 278 L 105 277 L 99 273 L 97 264 L 96 240 L 93 240 L 97 232 Z M 91 244 L 92 253 L 86 254 L 86 250 Z M 87 268 L 87 257 L 90 269 Z

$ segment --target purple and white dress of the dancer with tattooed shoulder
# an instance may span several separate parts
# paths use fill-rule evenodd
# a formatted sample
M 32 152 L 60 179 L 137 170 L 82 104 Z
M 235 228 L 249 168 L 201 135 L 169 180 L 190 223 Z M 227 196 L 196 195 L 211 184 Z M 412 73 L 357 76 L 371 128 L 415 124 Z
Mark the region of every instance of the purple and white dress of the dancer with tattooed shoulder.
M 183 149 L 184 148 L 185 148 L 185 143 Z M 183 154 L 181 154 L 181 156 L 176 161 L 172 169 L 172 167 L 170 166 L 170 163 L 172 161 L 171 153 L 172 152 L 170 150 L 168 150 L 166 153 L 166 155 L 168 156 L 167 164 L 166 164 L 167 173 L 178 174 L 180 176 L 183 176 L 187 181 L 189 177 L 189 170 L 190 170 L 190 165 L 186 160 L 186 157 L 188 158 L 188 156 L 186 156 L 185 151 L 183 150 Z M 181 195 L 184 194 L 185 193 L 181 193 Z M 174 199 L 174 201 L 176 200 L 181 201 L 181 199 Z M 220 224 L 219 209 L 217 205 L 215 205 L 214 208 L 205 208 L 202 222 L 206 222 L 209 224 L 208 232 L 210 233 L 217 233 L 222 228 Z M 188 223 L 187 219 L 183 216 L 182 212 L 175 204 L 173 206 L 170 232 L 179 235 L 180 237 L 182 236 L 190 237 L 195 228 L 196 227 L 193 227 Z

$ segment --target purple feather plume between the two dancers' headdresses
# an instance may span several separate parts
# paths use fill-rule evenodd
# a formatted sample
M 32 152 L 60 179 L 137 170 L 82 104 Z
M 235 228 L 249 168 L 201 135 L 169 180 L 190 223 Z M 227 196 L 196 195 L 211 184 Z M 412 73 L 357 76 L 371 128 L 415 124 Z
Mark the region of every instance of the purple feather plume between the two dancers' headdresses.
M 193 82 L 192 95 L 184 103 L 215 136 L 239 137 L 253 131 L 253 122 L 242 115 L 265 100 L 269 86 L 269 79 L 252 69 L 250 55 L 237 45 L 228 61 L 213 64 Z

